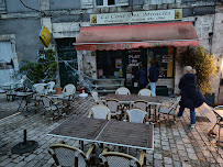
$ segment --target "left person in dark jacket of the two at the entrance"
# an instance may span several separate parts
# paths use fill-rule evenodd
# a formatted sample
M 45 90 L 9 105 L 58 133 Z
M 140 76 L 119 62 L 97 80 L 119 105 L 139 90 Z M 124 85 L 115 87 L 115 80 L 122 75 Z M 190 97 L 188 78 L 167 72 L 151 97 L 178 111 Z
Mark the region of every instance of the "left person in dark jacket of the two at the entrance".
M 138 86 L 141 89 L 145 88 L 148 85 L 146 69 L 143 67 L 142 63 L 140 64 L 138 69 L 136 71 L 136 78 L 138 79 Z

